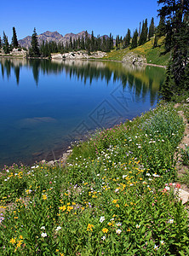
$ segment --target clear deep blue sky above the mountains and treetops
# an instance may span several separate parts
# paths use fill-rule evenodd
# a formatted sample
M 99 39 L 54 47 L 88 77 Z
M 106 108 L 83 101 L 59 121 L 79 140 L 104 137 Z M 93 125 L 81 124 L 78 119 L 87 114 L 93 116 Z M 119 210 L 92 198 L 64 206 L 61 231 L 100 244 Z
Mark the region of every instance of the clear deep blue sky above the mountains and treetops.
M 68 32 L 93 30 L 94 36 L 112 32 L 114 38 L 124 36 L 129 28 L 134 32 L 140 21 L 147 18 L 148 25 L 154 17 L 158 25 L 156 0 L 32 0 L 1 1 L 0 36 L 3 31 L 11 41 L 15 26 L 18 39 L 47 30 L 58 31 L 63 36 Z

